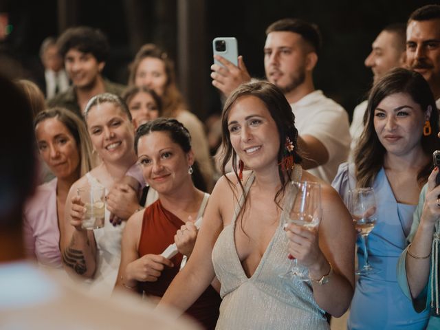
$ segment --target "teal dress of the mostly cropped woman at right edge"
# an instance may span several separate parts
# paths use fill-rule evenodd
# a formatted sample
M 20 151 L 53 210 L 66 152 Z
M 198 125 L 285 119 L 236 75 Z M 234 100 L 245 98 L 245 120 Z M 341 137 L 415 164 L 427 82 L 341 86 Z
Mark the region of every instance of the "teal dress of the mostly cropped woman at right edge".
M 408 243 L 412 242 L 414 239 L 415 233 L 417 232 L 417 229 L 419 228 L 420 224 L 420 218 L 421 213 L 423 211 L 423 204 L 425 203 L 425 197 L 426 197 L 426 189 L 428 187 L 428 184 L 423 186 L 420 197 L 419 197 L 419 203 L 417 204 L 417 208 L 414 212 L 414 221 L 412 221 L 411 225 L 411 231 L 408 235 L 407 241 Z M 437 229 L 437 226 L 436 226 Z M 428 279 L 428 282 L 426 283 L 425 288 L 419 294 L 419 296 L 415 299 L 412 299 L 410 288 L 408 285 L 408 281 L 406 279 L 406 268 L 405 268 L 405 259 L 406 259 L 406 252 L 408 248 L 402 252 L 399 263 L 397 263 L 397 281 L 399 281 L 400 288 L 403 290 L 405 296 L 408 297 L 408 299 L 412 300 L 412 305 L 414 306 L 414 309 L 416 311 L 419 311 L 421 314 L 429 315 L 430 311 L 430 301 L 431 301 L 431 276 Z M 440 329 L 440 317 L 434 316 L 433 313 L 431 313 L 431 316 L 429 318 L 428 327 L 426 328 L 428 330 L 433 329 Z

